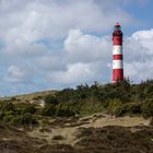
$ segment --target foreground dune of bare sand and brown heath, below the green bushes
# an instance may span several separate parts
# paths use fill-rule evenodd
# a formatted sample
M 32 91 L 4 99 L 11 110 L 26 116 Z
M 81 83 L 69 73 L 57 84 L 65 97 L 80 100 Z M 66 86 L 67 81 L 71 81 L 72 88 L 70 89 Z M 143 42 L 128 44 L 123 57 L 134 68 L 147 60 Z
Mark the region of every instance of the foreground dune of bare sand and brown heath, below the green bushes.
M 142 117 L 46 119 L 27 129 L 0 123 L 0 153 L 153 153 L 153 126 Z

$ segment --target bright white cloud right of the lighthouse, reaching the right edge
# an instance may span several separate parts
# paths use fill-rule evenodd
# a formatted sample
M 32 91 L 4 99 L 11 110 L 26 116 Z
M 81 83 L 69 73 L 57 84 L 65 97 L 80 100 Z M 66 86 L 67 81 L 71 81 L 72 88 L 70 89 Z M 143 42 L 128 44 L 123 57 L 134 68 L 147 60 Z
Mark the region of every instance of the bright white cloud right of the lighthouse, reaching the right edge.
M 153 30 L 139 31 L 125 40 L 125 71 L 133 81 L 153 79 Z

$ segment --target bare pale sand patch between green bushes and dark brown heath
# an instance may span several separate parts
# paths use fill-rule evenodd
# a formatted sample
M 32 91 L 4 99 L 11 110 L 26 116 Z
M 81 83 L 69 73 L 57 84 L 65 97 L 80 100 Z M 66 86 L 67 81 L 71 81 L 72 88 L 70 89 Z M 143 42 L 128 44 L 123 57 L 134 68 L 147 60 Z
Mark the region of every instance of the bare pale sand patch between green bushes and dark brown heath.
M 56 122 L 56 123 L 55 123 Z M 28 136 L 45 139 L 48 144 L 62 143 L 74 145 L 79 140 L 76 134 L 80 128 L 102 128 L 106 126 L 121 126 L 121 127 L 136 127 L 136 126 L 148 126 L 150 120 L 142 117 L 118 117 L 109 116 L 106 114 L 96 114 L 93 116 L 79 118 L 73 121 L 70 119 L 61 120 L 52 119 L 50 120 L 50 126 L 47 127 L 49 132 L 40 132 L 39 129 L 35 129 L 28 132 Z M 61 136 L 62 140 L 54 140 L 55 137 Z

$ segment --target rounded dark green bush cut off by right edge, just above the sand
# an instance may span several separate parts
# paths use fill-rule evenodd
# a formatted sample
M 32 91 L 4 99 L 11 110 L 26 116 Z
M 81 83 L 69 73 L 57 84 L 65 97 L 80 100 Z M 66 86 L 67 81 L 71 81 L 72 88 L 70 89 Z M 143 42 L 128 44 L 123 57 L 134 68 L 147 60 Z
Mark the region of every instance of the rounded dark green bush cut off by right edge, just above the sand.
M 144 118 L 153 117 L 153 99 L 146 99 L 142 106 L 142 116 Z

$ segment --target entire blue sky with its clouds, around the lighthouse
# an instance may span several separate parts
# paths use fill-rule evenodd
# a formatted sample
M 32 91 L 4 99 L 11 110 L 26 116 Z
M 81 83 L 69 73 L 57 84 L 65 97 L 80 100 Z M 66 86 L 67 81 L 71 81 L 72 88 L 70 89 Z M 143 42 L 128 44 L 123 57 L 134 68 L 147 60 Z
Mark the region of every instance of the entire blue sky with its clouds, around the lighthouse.
M 0 0 L 0 96 L 111 81 L 111 33 L 125 76 L 153 79 L 152 0 Z

